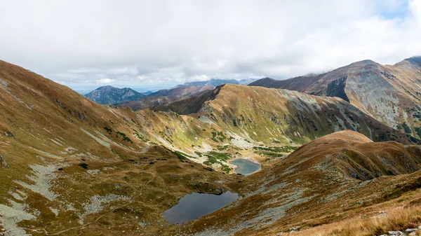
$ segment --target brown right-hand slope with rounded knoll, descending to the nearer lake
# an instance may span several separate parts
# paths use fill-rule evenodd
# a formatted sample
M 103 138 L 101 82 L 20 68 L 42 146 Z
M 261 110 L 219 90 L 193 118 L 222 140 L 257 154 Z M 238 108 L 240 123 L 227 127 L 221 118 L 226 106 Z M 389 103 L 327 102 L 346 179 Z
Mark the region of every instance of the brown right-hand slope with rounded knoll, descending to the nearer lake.
M 330 223 L 419 206 L 420 151 L 420 146 L 375 143 L 358 132 L 329 134 L 243 179 L 243 198 L 196 221 L 194 230 L 197 235 L 279 235 L 298 228 L 300 235 L 324 235 L 312 228 L 326 225 L 331 232 Z M 421 221 L 407 219 L 401 226 L 391 222 L 389 228 L 371 229 L 372 234 L 354 235 L 381 235 Z

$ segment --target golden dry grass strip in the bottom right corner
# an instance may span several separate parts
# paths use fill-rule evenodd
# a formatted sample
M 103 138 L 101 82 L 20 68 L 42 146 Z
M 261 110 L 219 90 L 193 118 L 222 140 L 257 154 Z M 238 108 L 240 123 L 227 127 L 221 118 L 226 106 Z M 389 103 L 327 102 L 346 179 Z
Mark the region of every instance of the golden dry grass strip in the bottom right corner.
M 296 232 L 293 235 L 328 235 L 328 236 L 368 236 L 382 235 L 388 231 L 407 228 L 417 228 L 421 224 L 421 205 L 415 207 L 394 207 L 385 211 L 387 216 L 360 216 L 338 223 L 321 225 L 308 230 Z M 420 230 L 421 231 L 421 230 Z M 421 232 L 417 232 L 421 235 Z

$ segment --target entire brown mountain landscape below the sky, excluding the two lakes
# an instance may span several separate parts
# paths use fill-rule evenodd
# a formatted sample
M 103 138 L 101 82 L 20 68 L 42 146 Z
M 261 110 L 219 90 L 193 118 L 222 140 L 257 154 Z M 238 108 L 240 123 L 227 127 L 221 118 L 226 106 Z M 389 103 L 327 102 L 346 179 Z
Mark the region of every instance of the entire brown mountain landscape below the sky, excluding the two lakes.
M 363 61 L 287 81 L 163 90 L 147 97 L 184 99 L 134 111 L 0 61 L 0 234 L 417 228 L 420 74 L 419 57 Z M 238 158 L 260 171 L 236 173 Z M 187 194 L 228 191 L 238 199 L 196 220 L 163 216 Z

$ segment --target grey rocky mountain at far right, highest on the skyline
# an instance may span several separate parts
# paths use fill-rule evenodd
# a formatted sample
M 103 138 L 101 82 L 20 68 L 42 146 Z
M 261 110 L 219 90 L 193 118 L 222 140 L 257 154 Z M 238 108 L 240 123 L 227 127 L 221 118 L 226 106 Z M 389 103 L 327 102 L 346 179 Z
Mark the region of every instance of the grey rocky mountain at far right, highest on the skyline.
M 284 81 L 263 78 L 250 85 L 340 97 L 382 123 L 420 138 L 420 58 L 411 57 L 394 65 L 365 60 L 326 74 Z

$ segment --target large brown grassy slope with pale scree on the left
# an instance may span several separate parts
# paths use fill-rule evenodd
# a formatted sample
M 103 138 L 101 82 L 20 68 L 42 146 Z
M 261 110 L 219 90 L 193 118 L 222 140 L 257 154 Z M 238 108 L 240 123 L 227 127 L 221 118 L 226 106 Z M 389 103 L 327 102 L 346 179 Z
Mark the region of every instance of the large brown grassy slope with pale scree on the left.
M 179 197 L 232 190 L 237 176 L 147 144 L 141 129 L 131 109 L 0 61 L 0 233 L 161 235 Z

